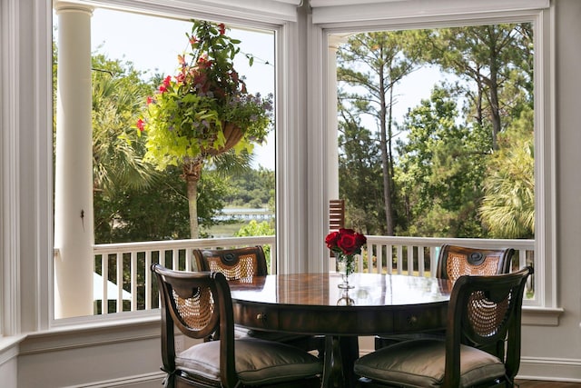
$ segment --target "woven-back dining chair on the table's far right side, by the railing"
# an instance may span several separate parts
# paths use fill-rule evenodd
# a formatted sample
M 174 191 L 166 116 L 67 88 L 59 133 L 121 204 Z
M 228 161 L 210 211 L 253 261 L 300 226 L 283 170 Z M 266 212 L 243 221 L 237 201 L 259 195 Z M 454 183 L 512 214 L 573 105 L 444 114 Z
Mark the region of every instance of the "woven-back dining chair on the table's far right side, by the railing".
M 512 256 L 512 248 L 474 248 L 443 244 L 439 249 L 436 277 L 455 281 L 459 276 L 508 274 Z M 389 334 L 375 336 L 375 349 L 381 349 L 393 343 L 422 337 L 444 336 L 444 332 Z

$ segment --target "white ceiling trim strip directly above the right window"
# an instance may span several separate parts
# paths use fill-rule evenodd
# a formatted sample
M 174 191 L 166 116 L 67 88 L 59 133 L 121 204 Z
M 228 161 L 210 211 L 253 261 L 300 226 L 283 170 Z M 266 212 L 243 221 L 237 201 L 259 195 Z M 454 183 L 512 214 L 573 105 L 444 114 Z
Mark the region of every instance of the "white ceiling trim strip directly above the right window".
M 314 24 L 527 11 L 550 0 L 310 0 Z

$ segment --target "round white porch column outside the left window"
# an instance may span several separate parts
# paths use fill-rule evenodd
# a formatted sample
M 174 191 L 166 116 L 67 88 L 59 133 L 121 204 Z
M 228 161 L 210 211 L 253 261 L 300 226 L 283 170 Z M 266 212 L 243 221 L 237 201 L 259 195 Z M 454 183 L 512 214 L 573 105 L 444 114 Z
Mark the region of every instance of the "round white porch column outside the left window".
M 93 8 L 57 1 L 54 317 L 93 314 Z

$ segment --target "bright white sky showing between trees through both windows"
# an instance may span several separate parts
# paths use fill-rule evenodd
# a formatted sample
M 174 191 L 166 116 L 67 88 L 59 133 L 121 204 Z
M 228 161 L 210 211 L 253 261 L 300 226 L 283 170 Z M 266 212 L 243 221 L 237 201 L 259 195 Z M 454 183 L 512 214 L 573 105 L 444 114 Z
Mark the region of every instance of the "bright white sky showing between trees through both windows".
M 57 20 L 56 18 L 54 20 Z M 115 12 L 96 8 L 91 20 L 92 51 L 106 55 L 109 59 L 132 62 L 145 72 L 144 77 L 159 73 L 174 75 L 178 67 L 177 55 L 188 48 L 186 32 L 191 32 L 191 23 L 162 17 Z M 246 77 L 250 93 L 267 95 L 274 91 L 274 35 L 266 32 L 231 30 L 229 35 L 241 40 L 241 53 L 255 57 L 248 65 L 244 55 L 235 60 L 239 74 Z M 428 98 L 433 85 L 441 78 L 435 69 L 420 69 L 405 78 L 397 86 L 394 117 L 399 122 L 408 107 Z M 369 123 L 369 125 L 374 125 Z M 256 146 L 253 166 L 259 165 L 274 170 L 274 134 L 271 132 L 266 144 Z

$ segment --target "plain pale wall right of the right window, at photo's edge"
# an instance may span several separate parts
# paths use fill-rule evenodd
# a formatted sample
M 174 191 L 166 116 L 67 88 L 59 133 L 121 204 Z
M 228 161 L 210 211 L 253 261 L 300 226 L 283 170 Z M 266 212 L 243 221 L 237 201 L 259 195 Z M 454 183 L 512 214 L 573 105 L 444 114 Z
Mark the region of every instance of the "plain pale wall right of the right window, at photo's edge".
M 556 327 L 525 326 L 520 373 L 581 382 L 581 2 L 556 0 Z

